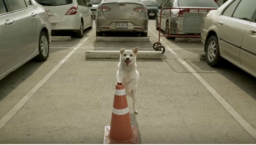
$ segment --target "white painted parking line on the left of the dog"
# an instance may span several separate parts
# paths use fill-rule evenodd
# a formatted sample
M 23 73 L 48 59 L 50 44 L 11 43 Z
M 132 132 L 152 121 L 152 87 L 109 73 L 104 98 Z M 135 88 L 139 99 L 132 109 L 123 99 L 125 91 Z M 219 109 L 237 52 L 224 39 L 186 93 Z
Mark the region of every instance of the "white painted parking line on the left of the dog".
M 70 58 L 70 56 L 81 46 L 88 38 L 92 35 L 94 31 L 88 34 L 88 37 L 84 37 L 79 41 L 77 47 L 75 47 L 62 61 L 60 61 L 54 68 L 46 74 L 17 104 L 11 108 L 1 119 L 0 119 L 0 130 L 6 125 L 6 123 L 19 111 L 19 109 L 25 105 L 28 100 L 36 93 L 36 91 L 43 85 L 49 78 Z

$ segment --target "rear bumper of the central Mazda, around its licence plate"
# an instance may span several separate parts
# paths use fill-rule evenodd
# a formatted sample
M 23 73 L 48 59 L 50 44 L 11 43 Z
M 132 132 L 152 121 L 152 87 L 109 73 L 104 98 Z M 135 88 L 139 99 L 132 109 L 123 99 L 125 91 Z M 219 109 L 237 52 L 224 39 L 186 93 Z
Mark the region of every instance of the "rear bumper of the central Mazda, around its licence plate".
M 115 32 L 147 32 L 148 18 L 139 18 L 136 20 L 113 20 L 105 17 L 97 17 L 96 31 L 115 31 Z M 116 22 L 128 22 L 128 28 L 116 28 Z

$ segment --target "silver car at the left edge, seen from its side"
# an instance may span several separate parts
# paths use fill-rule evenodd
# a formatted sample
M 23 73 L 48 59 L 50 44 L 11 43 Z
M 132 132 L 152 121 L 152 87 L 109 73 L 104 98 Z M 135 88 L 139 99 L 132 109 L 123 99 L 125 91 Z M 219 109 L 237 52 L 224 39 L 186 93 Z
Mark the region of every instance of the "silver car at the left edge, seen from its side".
M 0 0 L 0 80 L 36 57 L 47 60 L 49 16 L 34 0 Z

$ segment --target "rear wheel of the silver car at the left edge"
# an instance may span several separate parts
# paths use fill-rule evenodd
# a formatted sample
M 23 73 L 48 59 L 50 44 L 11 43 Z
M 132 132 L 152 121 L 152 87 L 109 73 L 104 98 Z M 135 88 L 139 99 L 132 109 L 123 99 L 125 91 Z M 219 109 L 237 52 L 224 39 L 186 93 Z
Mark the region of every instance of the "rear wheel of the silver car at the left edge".
M 49 41 L 48 36 L 44 31 L 41 31 L 38 45 L 39 54 L 36 56 L 38 61 L 46 61 L 49 56 Z

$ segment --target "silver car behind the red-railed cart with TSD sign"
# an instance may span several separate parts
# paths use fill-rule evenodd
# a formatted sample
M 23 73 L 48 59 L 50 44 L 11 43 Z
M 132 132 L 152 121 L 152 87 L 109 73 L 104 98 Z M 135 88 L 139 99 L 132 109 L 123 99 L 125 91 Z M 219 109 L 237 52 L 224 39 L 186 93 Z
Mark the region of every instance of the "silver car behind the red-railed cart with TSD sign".
M 171 8 L 196 8 L 195 10 L 187 10 L 187 9 L 173 9 L 171 10 L 162 10 L 161 15 L 161 29 L 165 31 L 165 34 L 177 34 L 179 28 L 179 34 L 182 33 L 182 22 L 183 22 L 183 13 L 184 12 L 198 12 L 198 9 L 205 9 L 200 10 L 199 13 L 204 14 L 204 18 L 207 14 L 206 9 L 216 9 L 219 8 L 219 5 L 214 0 L 167 0 L 163 7 L 171 7 Z M 160 7 L 161 8 L 161 7 Z M 157 14 L 156 18 L 156 29 L 159 30 L 160 25 L 160 11 Z

